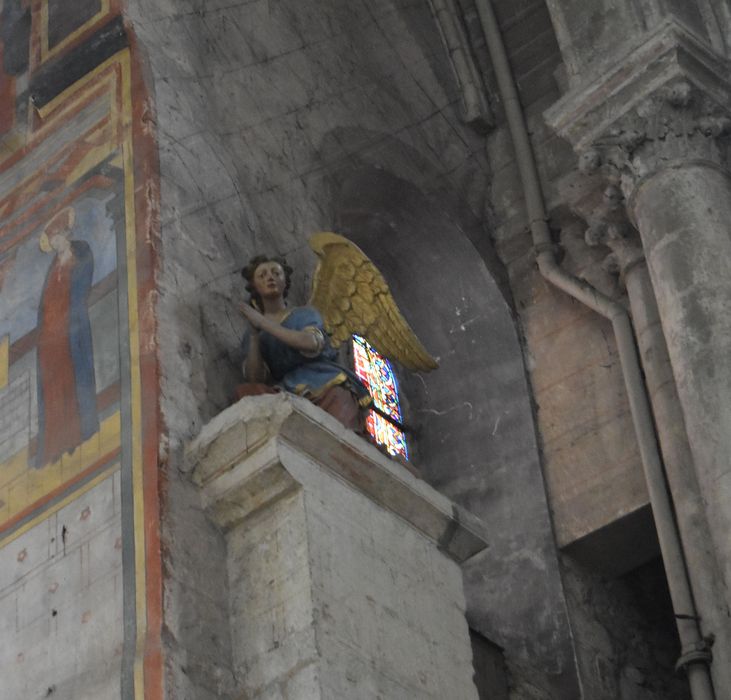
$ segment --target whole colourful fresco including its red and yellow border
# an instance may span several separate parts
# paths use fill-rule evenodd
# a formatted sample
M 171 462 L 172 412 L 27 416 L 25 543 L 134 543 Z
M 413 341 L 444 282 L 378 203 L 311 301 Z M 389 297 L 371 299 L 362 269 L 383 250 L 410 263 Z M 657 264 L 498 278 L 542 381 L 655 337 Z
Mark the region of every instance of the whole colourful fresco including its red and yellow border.
M 156 151 L 131 42 L 115 0 L 0 0 L 0 557 L 113 479 L 120 692 L 156 698 Z

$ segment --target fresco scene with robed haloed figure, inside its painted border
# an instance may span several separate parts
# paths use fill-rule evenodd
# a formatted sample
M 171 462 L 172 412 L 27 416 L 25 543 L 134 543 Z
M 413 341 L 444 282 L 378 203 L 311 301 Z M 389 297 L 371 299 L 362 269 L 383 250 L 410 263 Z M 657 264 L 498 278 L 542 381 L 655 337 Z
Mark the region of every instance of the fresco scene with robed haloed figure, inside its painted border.
M 121 68 L 114 61 L 100 72 L 107 90 L 118 87 Z M 75 119 L 61 133 L 45 121 L 14 176 L 0 175 L 4 521 L 119 456 L 116 251 L 127 227 L 115 141 L 125 135 L 106 90 L 92 89 L 96 82 L 77 95 Z M 59 110 L 67 111 L 60 103 Z M 91 129 L 76 126 L 90 117 Z M 51 157 L 41 163 L 41 154 Z

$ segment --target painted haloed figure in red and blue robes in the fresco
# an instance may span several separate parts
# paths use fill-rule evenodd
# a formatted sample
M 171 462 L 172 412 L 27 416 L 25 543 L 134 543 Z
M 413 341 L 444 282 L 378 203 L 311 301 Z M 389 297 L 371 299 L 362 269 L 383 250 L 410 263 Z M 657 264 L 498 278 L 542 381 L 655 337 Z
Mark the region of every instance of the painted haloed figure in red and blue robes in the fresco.
M 36 466 L 71 452 L 99 429 L 88 298 L 91 248 L 71 239 L 71 207 L 46 225 L 41 250 L 53 253 L 38 309 Z

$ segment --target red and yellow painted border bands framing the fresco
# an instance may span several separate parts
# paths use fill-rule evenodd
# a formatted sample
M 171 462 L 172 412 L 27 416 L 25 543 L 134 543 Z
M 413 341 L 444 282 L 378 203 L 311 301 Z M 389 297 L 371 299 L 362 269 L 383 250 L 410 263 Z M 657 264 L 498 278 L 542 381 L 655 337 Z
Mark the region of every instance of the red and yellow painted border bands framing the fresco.
M 34 37 L 32 55 L 39 65 L 56 53 L 82 42 L 97 29 L 109 12 L 117 6 L 116 0 L 106 0 L 105 14 L 90 20 L 73 35 L 48 50 L 43 44 L 43 33 Z M 47 0 L 34 0 L 34 28 L 42 29 L 47 23 Z M 45 15 L 44 15 L 45 7 Z M 45 17 L 45 20 L 44 20 Z M 40 18 L 40 19 L 39 19 Z M 47 33 L 46 33 L 47 41 Z M 159 187 L 157 145 L 152 129 L 151 110 L 145 88 L 142 67 L 135 57 L 132 45 L 104 61 L 82 79 L 64 90 L 42 109 L 35 110 L 28 124 L 25 143 L 0 164 L 0 172 L 17 165 L 57 126 L 73 120 L 84 105 L 96 99 L 110 100 L 109 117 L 103 124 L 95 124 L 84 138 L 71 144 L 62 155 L 73 162 L 69 182 L 79 173 L 88 172 L 94 165 L 110 157 L 121 165 L 124 178 L 125 212 L 125 265 L 127 273 L 124 288 L 127 294 L 129 376 L 129 416 L 131 424 L 121 426 L 129 440 L 120 440 L 104 455 L 85 463 L 80 455 L 78 472 L 59 480 L 54 488 L 35 498 L 32 503 L 11 520 L 0 525 L 0 546 L 27 531 L 50 513 L 78 498 L 95 484 L 120 467 L 120 450 L 129 449 L 126 461 L 131 465 L 131 512 L 123 512 L 123 523 L 131 523 L 127 535 L 133 539 L 134 561 L 125 567 L 134 568 L 134 640 L 133 687 L 135 698 L 160 700 L 163 696 L 163 658 L 161 649 L 162 578 L 160 552 L 160 508 L 158 444 L 160 414 L 158 403 L 158 367 L 155 344 L 155 245 L 159 238 Z M 67 182 L 67 184 L 69 184 Z M 66 195 L 73 196 L 73 195 Z M 32 202 L 24 214 L 3 231 L 0 245 L 17 244 L 31 234 L 37 222 L 47 215 L 49 207 L 59 206 L 53 195 L 42 191 L 42 173 L 29 172 L 11 193 L 12 199 L 0 201 L 0 211 L 12 215 L 24 203 Z M 44 200 L 44 197 L 46 198 Z M 12 243 L 11 243 L 12 241 Z M 118 270 L 122 269 L 118 265 Z M 122 287 L 120 287 L 120 293 Z M 124 328 L 120 329 L 124 332 Z M 11 348 L 6 348 L 11 352 Z M 112 441 L 114 442 L 114 441 Z M 127 448 L 126 446 L 129 446 Z M 95 473 L 96 472 L 96 473 Z M 36 494 L 39 495 L 39 494 Z M 22 523 L 20 522 L 22 521 Z M 12 526 L 12 527 L 11 527 Z M 3 538 L 2 533 L 6 536 Z M 124 524 L 123 524 L 124 532 Z M 125 535 L 125 536 L 127 536 Z

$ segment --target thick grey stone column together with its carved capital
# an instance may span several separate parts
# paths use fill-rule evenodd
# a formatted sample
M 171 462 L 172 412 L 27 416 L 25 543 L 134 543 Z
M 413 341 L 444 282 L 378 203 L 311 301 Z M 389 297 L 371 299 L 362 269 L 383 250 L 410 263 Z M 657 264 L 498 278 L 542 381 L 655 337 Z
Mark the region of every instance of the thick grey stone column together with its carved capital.
M 711 46 L 671 26 L 546 113 L 582 155 L 585 170 L 621 183 L 641 235 L 726 606 L 731 603 L 728 75 L 727 61 Z M 682 509 L 683 493 L 674 497 Z M 728 649 L 721 657 L 712 668 L 717 692 L 725 697 L 731 694 L 724 670 Z

